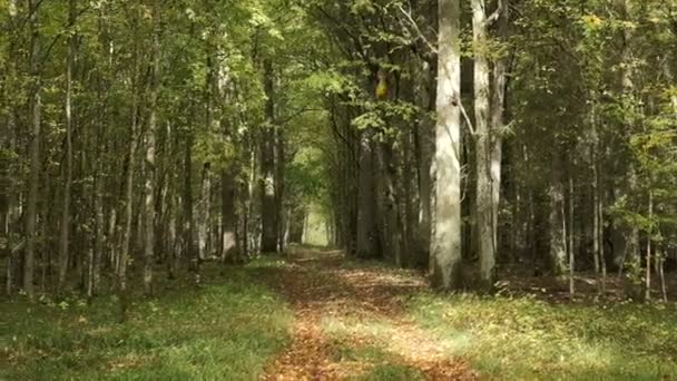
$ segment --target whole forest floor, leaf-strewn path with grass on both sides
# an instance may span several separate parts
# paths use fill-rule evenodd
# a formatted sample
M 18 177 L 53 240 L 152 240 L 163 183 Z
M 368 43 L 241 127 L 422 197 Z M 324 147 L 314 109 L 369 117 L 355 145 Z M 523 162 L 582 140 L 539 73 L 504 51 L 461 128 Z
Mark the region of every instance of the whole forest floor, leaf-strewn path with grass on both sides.
M 0 380 L 677 380 L 674 303 L 443 295 L 308 247 L 156 280 L 124 323 L 115 295 L 0 296 Z

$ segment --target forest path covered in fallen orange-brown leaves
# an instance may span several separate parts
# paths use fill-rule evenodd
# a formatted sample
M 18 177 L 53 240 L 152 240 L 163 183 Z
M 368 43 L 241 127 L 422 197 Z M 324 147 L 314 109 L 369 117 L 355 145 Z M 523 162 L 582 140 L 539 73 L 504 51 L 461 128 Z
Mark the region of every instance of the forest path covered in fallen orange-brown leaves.
M 277 270 L 266 277 L 294 309 L 293 341 L 264 380 L 477 379 L 405 318 L 422 276 L 311 248 L 291 251 Z

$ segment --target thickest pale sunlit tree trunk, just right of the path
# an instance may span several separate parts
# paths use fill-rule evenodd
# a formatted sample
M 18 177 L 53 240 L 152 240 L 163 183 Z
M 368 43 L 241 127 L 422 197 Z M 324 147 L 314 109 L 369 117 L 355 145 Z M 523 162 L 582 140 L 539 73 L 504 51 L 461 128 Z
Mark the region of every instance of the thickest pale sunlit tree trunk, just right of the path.
M 459 0 L 440 0 L 438 48 L 438 125 L 433 170 L 435 197 L 431 240 L 434 287 L 462 286 L 461 272 L 461 39 Z

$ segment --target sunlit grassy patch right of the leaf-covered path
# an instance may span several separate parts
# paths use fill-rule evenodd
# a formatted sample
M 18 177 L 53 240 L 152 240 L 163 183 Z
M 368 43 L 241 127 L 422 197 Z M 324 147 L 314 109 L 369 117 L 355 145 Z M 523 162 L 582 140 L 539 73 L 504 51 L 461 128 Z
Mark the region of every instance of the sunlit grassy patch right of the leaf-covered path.
M 412 316 L 451 355 L 498 379 L 675 378 L 676 312 L 667 305 L 428 293 L 410 302 Z

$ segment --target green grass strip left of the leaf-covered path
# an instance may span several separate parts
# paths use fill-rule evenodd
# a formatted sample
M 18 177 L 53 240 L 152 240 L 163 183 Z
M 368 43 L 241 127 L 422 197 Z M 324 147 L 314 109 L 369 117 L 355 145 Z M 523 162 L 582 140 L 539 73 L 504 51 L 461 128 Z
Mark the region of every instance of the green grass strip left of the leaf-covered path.
M 0 305 L 0 380 L 257 380 L 288 342 L 292 314 L 253 280 L 261 266 L 203 273 L 154 299 L 88 305 L 22 300 Z

